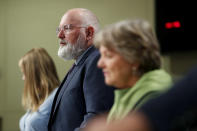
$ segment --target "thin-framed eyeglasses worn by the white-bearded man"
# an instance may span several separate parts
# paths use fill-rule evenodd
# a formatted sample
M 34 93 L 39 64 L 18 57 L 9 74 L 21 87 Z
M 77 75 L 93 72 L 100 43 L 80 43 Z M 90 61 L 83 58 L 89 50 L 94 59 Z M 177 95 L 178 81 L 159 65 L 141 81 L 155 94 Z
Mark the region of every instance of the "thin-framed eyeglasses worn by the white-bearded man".
M 64 25 L 63 27 L 58 27 L 56 29 L 56 35 L 58 35 L 60 33 L 61 30 L 64 31 L 65 34 L 69 33 L 70 31 L 72 31 L 75 28 L 86 28 L 87 26 L 74 26 L 72 24 L 69 25 Z

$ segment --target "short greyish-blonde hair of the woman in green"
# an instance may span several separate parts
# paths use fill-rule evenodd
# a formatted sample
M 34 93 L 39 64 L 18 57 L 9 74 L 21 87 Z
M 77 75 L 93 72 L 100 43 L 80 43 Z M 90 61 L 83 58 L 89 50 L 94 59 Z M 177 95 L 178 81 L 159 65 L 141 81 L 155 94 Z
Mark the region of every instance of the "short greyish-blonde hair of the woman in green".
M 96 34 L 94 45 L 114 49 L 130 63 L 138 62 L 140 74 L 161 66 L 157 38 L 145 20 L 124 20 L 107 26 Z

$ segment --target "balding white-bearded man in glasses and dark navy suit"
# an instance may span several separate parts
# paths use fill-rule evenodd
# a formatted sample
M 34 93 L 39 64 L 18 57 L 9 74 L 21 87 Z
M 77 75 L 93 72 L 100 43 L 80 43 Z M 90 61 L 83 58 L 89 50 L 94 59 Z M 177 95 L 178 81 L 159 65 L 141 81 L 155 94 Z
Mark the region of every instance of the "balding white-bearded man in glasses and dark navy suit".
M 98 30 L 96 16 L 83 8 L 68 10 L 60 21 L 56 30 L 60 39 L 58 56 L 75 62 L 54 98 L 49 131 L 84 128 L 87 120 L 109 111 L 113 104 L 113 87 L 105 85 L 103 73 L 97 68 L 100 54 L 93 46 L 93 37 Z

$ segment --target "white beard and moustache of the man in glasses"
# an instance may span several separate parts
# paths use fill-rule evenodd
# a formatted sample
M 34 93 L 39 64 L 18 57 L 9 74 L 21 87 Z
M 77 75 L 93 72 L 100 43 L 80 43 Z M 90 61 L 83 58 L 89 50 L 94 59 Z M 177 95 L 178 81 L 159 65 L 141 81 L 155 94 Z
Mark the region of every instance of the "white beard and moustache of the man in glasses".
M 58 56 L 64 60 L 77 59 L 78 56 L 86 50 L 86 43 L 85 40 L 82 39 L 81 35 L 79 35 L 76 43 L 74 44 L 68 43 L 65 40 L 61 40 L 60 42 L 66 43 L 66 45 L 60 46 L 58 50 Z

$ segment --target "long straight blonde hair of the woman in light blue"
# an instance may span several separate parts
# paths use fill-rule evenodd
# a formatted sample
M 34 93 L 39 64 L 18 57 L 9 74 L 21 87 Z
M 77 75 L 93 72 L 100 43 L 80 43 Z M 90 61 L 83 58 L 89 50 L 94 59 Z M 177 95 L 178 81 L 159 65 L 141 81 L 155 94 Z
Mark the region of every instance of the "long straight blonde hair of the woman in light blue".
M 55 64 L 45 49 L 33 48 L 19 60 L 19 67 L 25 76 L 22 105 L 37 111 L 60 84 Z

